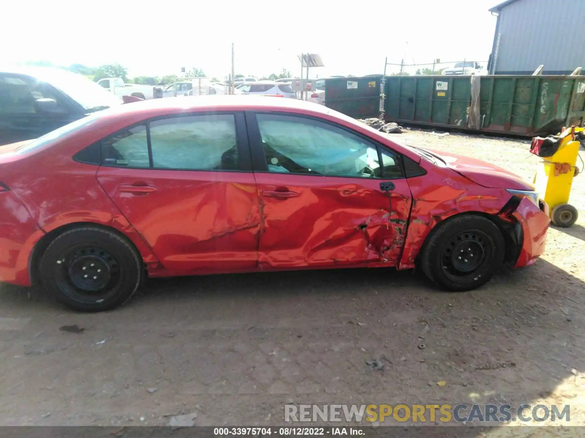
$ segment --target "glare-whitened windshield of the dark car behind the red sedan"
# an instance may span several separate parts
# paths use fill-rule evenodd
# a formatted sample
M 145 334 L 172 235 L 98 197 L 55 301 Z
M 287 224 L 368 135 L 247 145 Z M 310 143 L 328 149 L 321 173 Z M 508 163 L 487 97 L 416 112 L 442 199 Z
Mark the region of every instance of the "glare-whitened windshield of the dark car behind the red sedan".
M 67 71 L 51 72 L 40 77 L 42 81 L 48 82 L 64 94 L 68 95 L 84 109 L 109 108 L 123 103 L 122 99 L 116 97 L 104 87 L 96 84 L 85 76 L 70 73 Z

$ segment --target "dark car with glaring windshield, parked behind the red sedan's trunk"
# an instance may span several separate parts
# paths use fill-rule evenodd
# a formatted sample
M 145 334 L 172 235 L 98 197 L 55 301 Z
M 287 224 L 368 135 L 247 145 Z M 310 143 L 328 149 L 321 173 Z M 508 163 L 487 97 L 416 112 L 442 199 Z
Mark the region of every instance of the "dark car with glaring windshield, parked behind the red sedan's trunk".
M 40 137 L 122 103 L 90 79 L 60 68 L 0 68 L 0 145 Z

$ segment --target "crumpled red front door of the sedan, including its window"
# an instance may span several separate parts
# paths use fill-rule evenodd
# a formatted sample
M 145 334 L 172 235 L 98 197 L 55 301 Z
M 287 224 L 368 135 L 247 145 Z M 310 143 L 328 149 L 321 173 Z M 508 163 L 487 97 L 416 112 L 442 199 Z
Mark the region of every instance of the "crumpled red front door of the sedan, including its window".
M 399 155 L 378 155 L 381 145 L 312 117 L 246 120 L 263 212 L 261 269 L 395 266 L 411 205 Z

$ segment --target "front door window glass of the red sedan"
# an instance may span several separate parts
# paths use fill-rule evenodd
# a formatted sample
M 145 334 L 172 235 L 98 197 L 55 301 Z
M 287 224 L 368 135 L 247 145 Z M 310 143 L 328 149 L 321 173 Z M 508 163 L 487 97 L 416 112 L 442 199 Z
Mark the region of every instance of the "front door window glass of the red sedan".
M 381 178 L 376 147 L 314 119 L 256 114 L 270 172 Z

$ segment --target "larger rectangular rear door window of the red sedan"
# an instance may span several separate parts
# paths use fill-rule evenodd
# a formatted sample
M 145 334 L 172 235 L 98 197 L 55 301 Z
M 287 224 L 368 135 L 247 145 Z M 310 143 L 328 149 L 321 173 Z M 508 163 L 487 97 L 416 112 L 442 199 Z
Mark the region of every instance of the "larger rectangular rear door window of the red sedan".
M 154 120 L 150 145 L 155 168 L 238 170 L 233 114 Z

